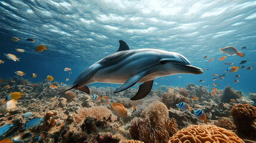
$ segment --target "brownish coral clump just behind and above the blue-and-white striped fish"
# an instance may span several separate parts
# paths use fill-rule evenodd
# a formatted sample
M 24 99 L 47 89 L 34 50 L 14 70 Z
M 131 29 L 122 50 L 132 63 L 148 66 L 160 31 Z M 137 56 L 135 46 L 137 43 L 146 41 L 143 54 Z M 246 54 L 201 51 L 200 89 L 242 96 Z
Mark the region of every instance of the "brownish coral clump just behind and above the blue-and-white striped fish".
M 190 104 L 189 99 L 183 97 L 183 95 L 169 94 L 166 92 L 162 94 L 162 102 L 164 102 L 167 108 L 176 108 L 176 104 L 178 104 L 179 102 L 186 102 L 187 104 Z

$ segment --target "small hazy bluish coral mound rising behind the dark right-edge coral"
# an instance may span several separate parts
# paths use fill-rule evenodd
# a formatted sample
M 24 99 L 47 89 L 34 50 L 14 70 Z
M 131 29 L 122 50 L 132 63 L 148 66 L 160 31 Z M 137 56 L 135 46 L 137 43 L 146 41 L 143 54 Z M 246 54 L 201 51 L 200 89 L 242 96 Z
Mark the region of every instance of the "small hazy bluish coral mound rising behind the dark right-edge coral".
M 221 97 L 221 102 L 230 102 L 231 99 L 236 100 L 241 98 L 242 92 L 232 89 L 230 86 L 224 88 L 224 94 Z

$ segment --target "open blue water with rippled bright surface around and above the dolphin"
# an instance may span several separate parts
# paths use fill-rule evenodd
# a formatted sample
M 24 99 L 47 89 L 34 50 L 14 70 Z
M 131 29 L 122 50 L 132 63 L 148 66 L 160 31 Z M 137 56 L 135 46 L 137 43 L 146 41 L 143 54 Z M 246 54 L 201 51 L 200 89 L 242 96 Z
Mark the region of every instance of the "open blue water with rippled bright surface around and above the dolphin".
M 131 49 L 156 48 L 178 52 L 203 74 L 177 74 L 158 78 L 153 85 L 185 86 L 187 83 L 220 85 L 256 92 L 255 69 L 239 69 L 229 73 L 223 81 L 212 81 L 212 74 L 225 74 L 225 61 L 239 66 L 256 62 L 256 1 L 0 1 L 0 78 L 14 77 L 24 71 L 32 82 L 42 82 L 47 75 L 54 81 L 72 85 L 76 77 L 91 64 L 115 52 L 119 39 Z M 18 42 L 10 40 L 16 36 Z M 26 41 L 33 38 L 36 42 Z M 38 45 L 48 50 L 35 52 Z M 227 56 L 220 48 L 234 46 L 245 57 Z M 247 49 L 240 49 L 247 46 Z M 24 49 L 17 52 L 15 48 Z M 14 62 L 5 53 L 17 55 Z M 203 57 L 207 55 L 208 58 Z M 214 60 L 208 62 L 209 58 Z M 63 71 L 65 67 L 72 68 Z M 209 68 L 209 71 L 205 69 Z M 32 78 L 36 73 L 38 77 Z M 235 75 L 239 82 L 234 83 Z M 181 78 L 178 78 L 181 76 Z M 66 82 L 69 78 L 69 82 Z M 166 80 L 166 78 L 168 80 Z M 199 80 L 206 82 L 199 83 Z M 169 80 L 171 82 L 169 82 Z M 94 83 L 93 86 L 107 86 Z

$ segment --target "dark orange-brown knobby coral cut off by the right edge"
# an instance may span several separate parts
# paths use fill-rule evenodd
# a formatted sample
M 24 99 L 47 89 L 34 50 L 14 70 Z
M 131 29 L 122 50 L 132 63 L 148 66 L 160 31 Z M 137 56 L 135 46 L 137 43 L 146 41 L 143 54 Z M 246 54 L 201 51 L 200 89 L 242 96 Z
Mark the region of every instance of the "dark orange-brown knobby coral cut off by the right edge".
M 256 129 L 253 126 L 256 120 L 256 107 L 249 104 L 236 104 L 230 110 L 238 133 L 256 138 Z

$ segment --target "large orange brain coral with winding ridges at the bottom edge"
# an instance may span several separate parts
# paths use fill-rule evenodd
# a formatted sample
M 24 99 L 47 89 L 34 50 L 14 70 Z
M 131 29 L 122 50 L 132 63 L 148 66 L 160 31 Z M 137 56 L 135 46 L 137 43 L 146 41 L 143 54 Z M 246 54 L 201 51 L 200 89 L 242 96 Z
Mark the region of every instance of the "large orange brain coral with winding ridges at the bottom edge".
M 214 125 L 192 125 L 175 133 L 168 143 L 195 142 L 240 142 L 235 133 Z M 244 142 L 243 142 L 244 143 Z

